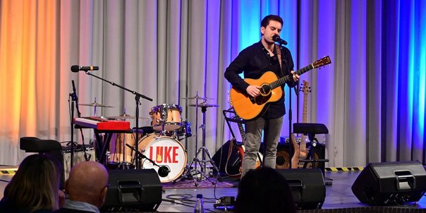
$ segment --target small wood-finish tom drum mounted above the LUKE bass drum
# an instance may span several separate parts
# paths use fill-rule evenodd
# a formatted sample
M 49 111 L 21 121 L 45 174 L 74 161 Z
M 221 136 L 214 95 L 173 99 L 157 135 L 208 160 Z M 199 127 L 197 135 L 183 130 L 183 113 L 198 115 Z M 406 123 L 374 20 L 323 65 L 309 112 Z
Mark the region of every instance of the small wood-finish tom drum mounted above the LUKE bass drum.
M 173 131 L 181 128 L 182 107 L 177 104 L 162 104 L 152 107 L 150 116 L 152 118 L 152 128 L 156 131 Z

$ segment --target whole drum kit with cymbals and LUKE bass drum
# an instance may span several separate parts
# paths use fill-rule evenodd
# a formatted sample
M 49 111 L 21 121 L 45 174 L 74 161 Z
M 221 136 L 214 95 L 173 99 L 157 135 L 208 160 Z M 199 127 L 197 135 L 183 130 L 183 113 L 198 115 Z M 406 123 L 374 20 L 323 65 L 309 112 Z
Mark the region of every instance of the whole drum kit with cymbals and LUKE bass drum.
M 161 104 L 152 107 L 149 111 L 151 119 L 151 126 L 143 126 L 139 129 L 133 128 L 133 133 L 116 133 L 113 140 L 109 145 L 109 152 L 107 152 L 107 168 L 108 169 L 155 169 L 159 174 L 162 183 L 174 182 L 182 178 L 192 178 L 197 185 L 199 176 L 193 174 L 200 174 L 201 178 L 208 178 L 206 174 L 206 163 L 212 164 L 214 169 L 217 169 L 214 164 L 209 150 L 205 147 L 205 123 L 208 107 L 219 107 L 217 104 L 208 104 L 207 97 L 184 97 L 181 99 L 196 100 L 196 104 L 189 104 L 189 107 L 196 107 L 202 109 L 202 147 L 197 148 L 197 137 L 195 137 L 195 157 L 190 164 L 188 162 L 188 155 L 186 147 L 183 147 L 180 140 L 191 137 L 191 123 L 183 121 L 181 118 L 182 107 L 178 104 Z M 202 100 L 201 103 L 198 103 Z M 99 103 L 79 104 L 81 106 L 89 107 L 109 107 Z M 196 123 L 198 126 L 198 110 L 196 110 Z M 135 116 L 126 114 L 126 109 L 123 114 L 118 116 L 109 116 L 108 118 L 117 120 L 135 119 Z M 139 134 L 138 138 L 138 156 L 135 159 L 135 134 Z M 197 128 L 195 128 L 195 135 L 197 135 Z M 114 140 L 115 139 L 115 140 Z M 198 159 L 198 155 L 202 153 L 202 159 Z M 208 159 L 206 159 L 208 157 Z M 135 162 L 139 161 L 138 165 L 141 168 L 135 168 Z M 200 170 L 197 170 L 199 165 Z M 210 180 L 209 180 L 210 181 Z M 212 182 L 213 183 L 213 182 Z

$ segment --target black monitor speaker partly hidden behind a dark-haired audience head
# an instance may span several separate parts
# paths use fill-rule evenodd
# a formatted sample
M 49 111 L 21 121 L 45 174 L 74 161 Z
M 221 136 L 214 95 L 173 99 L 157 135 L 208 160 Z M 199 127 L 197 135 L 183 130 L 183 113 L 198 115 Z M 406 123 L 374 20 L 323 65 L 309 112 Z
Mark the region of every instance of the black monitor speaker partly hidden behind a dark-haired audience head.
M 321 209 L 325 183 L 320 169 L 277 169 L 288 185 L 297 209 Z

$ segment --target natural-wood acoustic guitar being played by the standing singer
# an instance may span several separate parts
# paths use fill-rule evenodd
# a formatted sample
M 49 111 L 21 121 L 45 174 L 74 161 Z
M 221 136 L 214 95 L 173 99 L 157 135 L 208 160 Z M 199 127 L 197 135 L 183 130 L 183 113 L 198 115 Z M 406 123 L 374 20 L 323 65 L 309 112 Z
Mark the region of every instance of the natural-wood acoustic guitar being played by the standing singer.
M 325 56 L 324 58 L 301 68 L 296 71 L 295 74 L 302 75 L 313 68 L 319 68 L 330 63 L 331 60 L 329 56 Z M 258 79 L 245 78 L 244 81 L 246 83 L 261 87 L 260 95 L 257 97 L 251 97 L 245 91 L 241 92 L 232 87 L 230 98 L 233 109 L 235 109 L 236 114 L 244 120 L 250 120 L 262 115 L 264 111 L 267 110 L 270 102 L 276 102 L 282 97 L 283 90 L 281 90 L 281 85 L 284 85 L 284 83 L 291 79 L 293 79 L 293 75 L 286 75 L 283 78 L 278 79 L 272 71 L 267 71 Z

